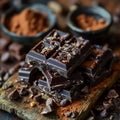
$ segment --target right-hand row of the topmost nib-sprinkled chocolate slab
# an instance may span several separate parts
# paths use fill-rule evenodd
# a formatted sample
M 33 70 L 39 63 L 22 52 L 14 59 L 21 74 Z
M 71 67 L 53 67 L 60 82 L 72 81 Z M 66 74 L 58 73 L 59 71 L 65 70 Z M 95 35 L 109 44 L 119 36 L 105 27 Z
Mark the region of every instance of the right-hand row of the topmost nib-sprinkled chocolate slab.
M 88 40 L 72 38 L 69 44 L 64 44 L 47 60 L 48 68 L 68 78 L 90 54 L 91 49 Z

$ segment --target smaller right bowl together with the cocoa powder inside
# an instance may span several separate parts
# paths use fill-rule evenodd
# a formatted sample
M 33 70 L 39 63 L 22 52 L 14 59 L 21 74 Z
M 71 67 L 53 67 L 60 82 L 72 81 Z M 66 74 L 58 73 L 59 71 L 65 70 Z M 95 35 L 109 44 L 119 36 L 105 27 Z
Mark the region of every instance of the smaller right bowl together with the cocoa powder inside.
M 101 39 L 112 25 L 112 16 L 99 6 L 79 7 L 67 16 L 68 27 L 76 36 L 86 39 Z

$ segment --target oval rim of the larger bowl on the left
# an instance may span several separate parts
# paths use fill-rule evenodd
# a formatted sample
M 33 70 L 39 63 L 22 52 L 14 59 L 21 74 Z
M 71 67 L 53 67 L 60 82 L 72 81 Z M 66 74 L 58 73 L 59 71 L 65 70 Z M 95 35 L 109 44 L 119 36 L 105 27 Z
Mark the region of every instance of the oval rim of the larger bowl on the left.
M 14 33 L 14 32 L 11 32 L 11 31 L 9 31 L 8 29 L 7 29 L 7 27 L 5 26 L 5 24 L 3 23 L 3 20 L 4 19 L 6 19 L 6 17 L 7 17 L 7 13 L 9 12 L 9 11 L 13 11 L 14 9 L 21 9 L 21 10 L 23 10 L 23 9 L 26 9 L 26 8 L 33 8 L 34 6 L 37 6 L 37 7 L 41 7 L 41 8 L 46 8 L 46 11 L 45 11 L 45 13 L 48 13 L 48 11 L 49 11 L 49 13 L 51 13 L 51 15 L 52 15 L 52 17 L 53 17 L 53 22 L 52 22 L 52 24 L 51 25 L 49 25 L 49 27 L 48 27 L 48 30 L 47 31 L 45 31 L 45 32 L 39 32 L 39 33 L 37 33 L 36 35 L 34 35 L 34 36 L 27 36 L 27 35 L 18 35 L 18 34 L 16 34 L 16 33 Z M 50 16 L 51 16 L 50 15 Z M 49 14 L 48 14 L 48 16 L 49 16 Z M 56 16 L 55 16 L 55 14 L 53 13 L 53 11 L 49 8 L 49 7 L 47 7 L 46 5 L 43 5 L 43 4 L 33 4 L 33 5 L 21 5 L 21 6 L 19 6 L 19 7 L 15 7 L 15 6 L 12 6 L 10 9 L 8 9 L 5 13 L 3 13 L 2 14 L 2 16 L 1 16 L 1 25 L 0 25 L 0 27 L 1 27 L 1 29 L 2 29 L 2 31 L 5 33 L 5 34 L 7 34 L 8 36 L 10 35 L 10 36 L 12 36 L 12 37 L 16 37 L 16 38 L 30 38 L 30 39 L 37 39 L 37 38 L 39 38 L 41 35 L 43 35 L 43 34 L 45 34 L 46 32 L 48 32 L 48 31 L 50 31 L 53 27 L 54 27 L 54 25 L 56 24 Z

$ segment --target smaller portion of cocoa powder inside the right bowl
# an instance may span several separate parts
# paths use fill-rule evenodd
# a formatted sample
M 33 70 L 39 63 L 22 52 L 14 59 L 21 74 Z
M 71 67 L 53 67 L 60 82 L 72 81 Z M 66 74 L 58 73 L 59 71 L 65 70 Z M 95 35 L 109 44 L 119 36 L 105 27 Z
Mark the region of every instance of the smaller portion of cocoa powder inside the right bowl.
M 95 17 L 85 14 L 80 14 L 76 17 L 77 26 L 83 30 L 93 31 L 99 30 L 106 26 L 104 18 L 96 20 Z

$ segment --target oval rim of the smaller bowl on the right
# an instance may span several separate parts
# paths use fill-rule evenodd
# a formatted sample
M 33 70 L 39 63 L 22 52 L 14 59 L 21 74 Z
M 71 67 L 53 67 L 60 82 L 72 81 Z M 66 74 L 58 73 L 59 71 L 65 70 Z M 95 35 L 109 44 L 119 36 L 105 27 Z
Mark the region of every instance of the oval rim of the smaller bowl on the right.
M 74 12 L 80 10 L 80 9 L 86 9 L 86 8 L 98 8 L 98 9 L 102 9 L 104 10 L 110 17 L 110 22 L 102 29 L 98 29 L 98 30 L 91 30 L 91 31 L 86 31 L 86 30 L 83 30 L 83 29 L 80 29 L 79 27 L 77 27 L 76 25 L 74 25 L 72 23 L 72 20 L 71 20 L 71 16 L 74 14 Z M 99 13 L 98 13 L 99 14 Z M 113 18 L 112 18 L 112 15 L 110 14 L 109 11 L 107 11 L 105 8 L 103 7 L 100 7 L 98 5 L 91 5 L 91 6 L 82 6 L 82 7 L 79 7 L 71 12 L 68 13 L 67 15 L 67 25 L 70 29 L 76 31 L 76 32 L 79 32 L 79 33 L 83 33 L 83 34 L 96 34 L 96 33 L 100 33 L 104 30 L 106 30 L 107 28 L 109 28 L 113 23 Z

